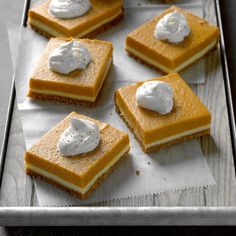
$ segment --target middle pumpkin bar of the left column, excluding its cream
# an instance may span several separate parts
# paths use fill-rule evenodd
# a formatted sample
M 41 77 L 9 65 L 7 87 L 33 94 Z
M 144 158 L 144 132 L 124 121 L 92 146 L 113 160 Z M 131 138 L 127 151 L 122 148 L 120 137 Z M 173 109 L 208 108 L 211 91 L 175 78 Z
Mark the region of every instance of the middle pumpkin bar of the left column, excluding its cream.
M 90 39 L 77 40 L 84 44 L 91 54 L 91 63 L 88 67 L 84 70 L 77 69 L 69 74 L 52 71 L 48 65 L 50 53 L 70 39 L 51 38 L 30 78 L 29 97 L 95 105 L 112 65 L 112 43 Z

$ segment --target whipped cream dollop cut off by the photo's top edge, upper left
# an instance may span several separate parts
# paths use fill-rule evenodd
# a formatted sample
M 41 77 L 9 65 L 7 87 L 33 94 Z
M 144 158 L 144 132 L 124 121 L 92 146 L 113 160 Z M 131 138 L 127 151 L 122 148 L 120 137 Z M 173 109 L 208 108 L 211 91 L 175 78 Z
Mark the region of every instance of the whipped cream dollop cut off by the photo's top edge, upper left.
M 49 4 L 49 12 L 60 19 L 82 16 L 90 8 L 89 0 L 52 0 Z

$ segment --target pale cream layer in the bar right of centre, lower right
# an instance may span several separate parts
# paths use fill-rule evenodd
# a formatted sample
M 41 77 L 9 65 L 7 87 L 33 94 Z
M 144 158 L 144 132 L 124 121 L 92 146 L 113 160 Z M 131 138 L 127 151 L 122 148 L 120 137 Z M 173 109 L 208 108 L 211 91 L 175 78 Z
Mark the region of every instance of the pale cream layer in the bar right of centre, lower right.
M 121 112 L 121 115 L 125 118 L 125 121 L 128 123 L 128 125 L 130 127 L 133 127 L 131 124 L 130 124 L 130 121 L 127 119 L 127 117 L 125 116 L 124 112 L 122 111 L 121 109 L 121 106 L 119 104 L 119 102 L 116 100 L 116 103 L 119 107 L 119 110 Z M 148 144 L 145 144 L 142 142 L 142 138 L 140 137 L 140 135 L 138 134 L 138 132 L 136 132 L 134 130 L 134 133 L 135 135 L 138 137 L 138 139 L 142 142 L 143 146 L 145 147 L 145 149 L 148 149 L 148 148 L 151 148 L 151 147 L 155 147 L 157 145 L 162 145 L 162 144 L 165 144 L 165 143 L 168 143 L 168 142 L 172 142 L 172 141 L 175 141 L 177 139 L 180 139 L 180 138 L 183 138 L 185 136 L 189 136 L 189 135 L 193 135 L 193 134 L 196 134 L 198 132 L 202 132 L 202 131 L 205 131 L 205 130 L 209 130 L 211 128 L 211 124 L 208 124 L 208 125 L 204 125 L 204 126 L 200 126 L 198 128 L 195 128 L 195 129 L 191 129 L 191 130 L 187 130 L 187 131 L 184 131 L 182 133 L 178 133 L 178 134 L 175 134 L 175 135 L 172 135 L 172 136 L 169 136 L 169 137 L 166 137 L 164 139 L 161 139 L 161 140 L 158 140 L 158 141 L 154 141 L 154 142 L 151 142 L 151 143 L 148 143 Z

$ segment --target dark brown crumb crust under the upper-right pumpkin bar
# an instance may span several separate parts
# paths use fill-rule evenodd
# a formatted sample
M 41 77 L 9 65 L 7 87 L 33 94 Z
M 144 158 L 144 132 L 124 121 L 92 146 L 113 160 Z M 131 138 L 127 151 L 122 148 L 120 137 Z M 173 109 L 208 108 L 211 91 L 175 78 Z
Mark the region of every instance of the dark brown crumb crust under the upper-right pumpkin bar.
M 197 62 L 198 60 L 200 60 L 200 59 L 202 59 L 203 57 L 205 57 L 206 55 L 208 55 L 208 54 L 213 53 L 214 51 L 216 51 L 216 49 L 217 49 L 217 47 L 218 47 L 218 41 L 219 41 L 219 40 L 217 40 L 216 45 L 215 45 L 211 50 L 209 50 L 208 52 L 206 52 L 202 57 L 200 57 L 200 58 L 197 59 L 196 61 L 192 62 L 192 63 L 189 64 L 188 66 L 184 67 L 184 68 L 183 68 L 182 70 L 180 70 L 180 71 L 186 70 L 187 68 L 189 68 L 190 66 L 192 66 L 192 65 L 193 65 L 195 62 Z M 146 61 L 144 61 L 143 59 L 139 58 L 138 56 L 134 55 L 132 52 L 128 51 L 127 49 L 125 49 L 125 50 L 126 50 L 126 52 L 128 53 L 128 55 L 129 55 L 130 57 L 134 58 L 136 61 L 140 62 L 141 64 L 146 65 L 146 66 L 148 66 L 148 67 L 150 67 L 150 68 L 156 70 L 158 73 L 161 73 L 161 74 L 163 74 L 163 75 L 169 74 L 169 73 L 167 73 L 167 72 L 161 70 L 160 68 L 158 68 L 158 67 L 156 67 L 156 66 L 154 66 L 154 65 L 152 65 L 152 64 L 149 64 L 148 62 L 146 62 Z M 180 72 L 180 71 L 177 71 L 177 73 Z M 172 73 L 172 72 L 171 72 L 171 73 Z

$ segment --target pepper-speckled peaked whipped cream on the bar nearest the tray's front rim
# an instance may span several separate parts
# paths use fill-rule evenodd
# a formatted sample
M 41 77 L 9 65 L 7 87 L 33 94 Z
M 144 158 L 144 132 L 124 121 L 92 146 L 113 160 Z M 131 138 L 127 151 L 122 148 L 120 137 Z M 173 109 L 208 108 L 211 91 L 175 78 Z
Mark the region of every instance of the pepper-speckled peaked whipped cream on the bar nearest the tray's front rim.
M 70 126 L 59 138 L 57 148 L 62 156 L 75 156 L 94 150 L 99 142 L 99 127 L 93 121 L 72 117 Z

